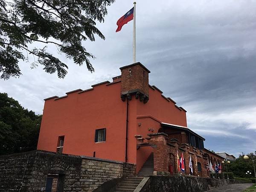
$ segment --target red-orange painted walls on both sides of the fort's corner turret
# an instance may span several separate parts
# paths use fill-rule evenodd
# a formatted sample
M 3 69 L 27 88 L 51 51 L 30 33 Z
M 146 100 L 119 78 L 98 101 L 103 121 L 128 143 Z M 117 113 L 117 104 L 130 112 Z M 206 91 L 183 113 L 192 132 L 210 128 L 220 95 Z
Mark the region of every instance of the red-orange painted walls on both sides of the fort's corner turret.
M 38 149 L 55 152 L 58 137 L 65 136 L 63 153 L 93 156 L 96 151 L 98 158 L 125 162 L 127 100 L 122 102 L 120 90 L 120 82 L 100 84 L 93 90 L 46 100 Z M 152 88 L 145 104 L 132 96 L 128 101 L 128 114 L 128 162 L 137 163 L 137 172 L 153 150 L 151 147 L 137 150 L 135 135 L 145 138 L 149 133 L 157 133 L 160 122 L 186 126 L 185 111 Z M 100 128 L 106 128 L 106 141 L 95 143 L 95 130 Z

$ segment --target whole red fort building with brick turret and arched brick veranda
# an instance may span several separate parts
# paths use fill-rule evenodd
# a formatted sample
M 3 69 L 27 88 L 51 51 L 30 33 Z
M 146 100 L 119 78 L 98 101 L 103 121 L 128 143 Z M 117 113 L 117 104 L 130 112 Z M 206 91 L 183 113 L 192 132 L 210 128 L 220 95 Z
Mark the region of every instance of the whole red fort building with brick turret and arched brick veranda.
M 45 100 L 38 150 L 134 163 L 138 175 L 185 172 L 209 176 L 208 160 L 223 157 L 204 148 L 205 139 L 187 127 L 186 110 L 148 84 L 150 71 L 140 62 L 120 68 L 113 82 Z

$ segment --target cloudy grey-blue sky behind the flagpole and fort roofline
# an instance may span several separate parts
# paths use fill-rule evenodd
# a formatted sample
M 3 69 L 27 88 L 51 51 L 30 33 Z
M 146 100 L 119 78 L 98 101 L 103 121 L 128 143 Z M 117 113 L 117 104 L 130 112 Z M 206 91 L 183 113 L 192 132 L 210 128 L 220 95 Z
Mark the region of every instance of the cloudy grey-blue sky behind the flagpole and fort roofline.
M 132 63 L 132 22 L 115 32 L 132 6 L 132 0 L 113 3 L 97 24 L 106 40 L 83 43 L 96 56 L 95 73 L 48 46 L 69 65 L 65 79 L 22 62 L 23 76 L 1 79 L 0 92 L 41 114 L 49 96 L 111 81 Z M 138 0 L 136 9 L 137 61 L 151 71 L 149 83 L 188 111 L 188 127 L 206 138 L 206 148 L 236 157 L 255 151 L 256 0 Z

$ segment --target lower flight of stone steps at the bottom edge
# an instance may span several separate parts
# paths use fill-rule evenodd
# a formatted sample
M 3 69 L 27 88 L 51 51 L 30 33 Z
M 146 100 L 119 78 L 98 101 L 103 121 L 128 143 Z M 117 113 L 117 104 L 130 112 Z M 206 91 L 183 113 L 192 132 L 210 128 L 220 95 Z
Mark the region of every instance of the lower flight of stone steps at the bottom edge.
M 114 192 L 133 192 L 144 177 L 127 177 L 122 180 Z

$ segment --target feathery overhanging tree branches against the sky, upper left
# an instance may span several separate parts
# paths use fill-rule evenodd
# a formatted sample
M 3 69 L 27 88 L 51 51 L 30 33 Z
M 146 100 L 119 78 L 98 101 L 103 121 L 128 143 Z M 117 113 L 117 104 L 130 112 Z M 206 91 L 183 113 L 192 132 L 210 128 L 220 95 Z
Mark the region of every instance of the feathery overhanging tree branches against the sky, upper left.
M 68 66 L 47 52 L 47 44 L 55 44 L 59 52 L 86 64 L 93 72 L 88 52 L 81 42 L 95 41 L 94 35 L 105 39 L 96 28 L 96 20 L 104 22 L 106 7 L 114 0 L 0 0 L 0 73 L 1 79 L 21 75 L 19 60 L 35 58 L 31 67 L 44 66 L 47 73 L 57 72 L 59 78 L 67 74 Z M 40 42 L 43 47 L 29 48 Z M 25 50 L 27 54 L 21 52 Z

